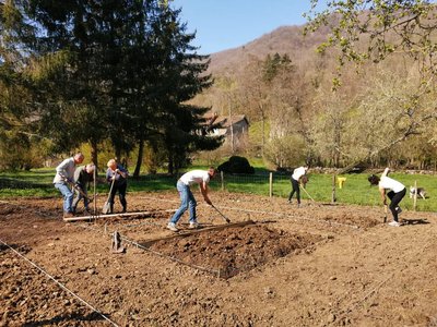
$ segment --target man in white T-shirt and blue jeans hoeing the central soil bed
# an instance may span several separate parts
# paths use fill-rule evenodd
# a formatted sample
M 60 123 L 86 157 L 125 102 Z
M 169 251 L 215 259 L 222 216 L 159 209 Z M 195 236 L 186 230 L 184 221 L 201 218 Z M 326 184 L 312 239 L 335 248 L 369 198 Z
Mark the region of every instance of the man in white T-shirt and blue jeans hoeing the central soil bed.
M 176 189 L 180 196 L 180 207 L 177 209 L 175 215 L 173 215 L 167 228 L 172 231 L 178 231 L 176 223 L 179 221 L 184 213 L 189 209 L 190 213 L 190 228 L 198 228 L 199 223 L 196 217 L 196 206 L 197 202 L 190 186 L 192 184 L 199 184 L 200 192 L 203 195 L 203 199 L 212 205 L 210 197 L 208 196 L 208 183 L 215 175 L 215 169 L 210 167 L 209 170 L 191 170 L 186 172 L 177 182 Z

